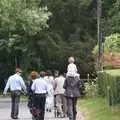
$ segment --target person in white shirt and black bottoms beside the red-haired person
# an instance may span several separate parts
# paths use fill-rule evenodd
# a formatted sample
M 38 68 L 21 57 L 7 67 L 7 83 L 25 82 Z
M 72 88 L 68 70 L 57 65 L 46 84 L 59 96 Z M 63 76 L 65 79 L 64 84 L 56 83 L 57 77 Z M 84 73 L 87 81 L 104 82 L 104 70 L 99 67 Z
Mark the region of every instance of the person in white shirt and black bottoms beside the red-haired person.
M 36 79 L 31 86 L 34 93 L 33 106 L 35 110 L 33 116 L 35 120 L 44 120 L 46 94 L 48 93 L 48 84 L 44 79 L 44 74 L 41 72 L 40 78 Z

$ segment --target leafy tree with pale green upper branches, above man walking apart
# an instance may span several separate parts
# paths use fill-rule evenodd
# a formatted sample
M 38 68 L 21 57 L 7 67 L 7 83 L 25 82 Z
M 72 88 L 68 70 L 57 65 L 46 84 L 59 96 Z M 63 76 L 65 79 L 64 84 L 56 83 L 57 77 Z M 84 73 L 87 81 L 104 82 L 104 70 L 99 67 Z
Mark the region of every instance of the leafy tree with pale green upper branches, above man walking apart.
M 13 73 L 15 67 L 23 67 L 25 70 L 31 66 L 30 62 L 34 61 L 33 37 L 48 27 L 50 15 L 47 7 L 39 7 L 37 1 L 0 0 L 1 82 Z

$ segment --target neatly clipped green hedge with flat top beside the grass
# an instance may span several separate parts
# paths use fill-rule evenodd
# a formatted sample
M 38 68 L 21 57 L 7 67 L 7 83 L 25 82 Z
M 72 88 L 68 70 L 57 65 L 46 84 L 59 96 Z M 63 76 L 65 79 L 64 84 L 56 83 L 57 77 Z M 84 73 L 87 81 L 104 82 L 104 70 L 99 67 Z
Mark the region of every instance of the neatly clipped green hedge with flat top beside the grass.
M 109 105 L 120 103 L 120 69 L 98 72 L 98 92 Z

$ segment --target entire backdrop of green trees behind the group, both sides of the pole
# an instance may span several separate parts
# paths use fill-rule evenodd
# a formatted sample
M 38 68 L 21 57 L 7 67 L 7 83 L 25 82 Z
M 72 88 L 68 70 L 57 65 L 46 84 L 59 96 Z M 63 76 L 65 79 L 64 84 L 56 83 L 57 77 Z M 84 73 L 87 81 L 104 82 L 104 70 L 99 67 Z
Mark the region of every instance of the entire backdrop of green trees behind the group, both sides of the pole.
M 66 72 L 75 56 L 79 73 L 94 72 L 96 0 L 0 0 L 1 81 L 22 67 Z M 105 35 L 119 33 L 119 0 L 103 1 Z

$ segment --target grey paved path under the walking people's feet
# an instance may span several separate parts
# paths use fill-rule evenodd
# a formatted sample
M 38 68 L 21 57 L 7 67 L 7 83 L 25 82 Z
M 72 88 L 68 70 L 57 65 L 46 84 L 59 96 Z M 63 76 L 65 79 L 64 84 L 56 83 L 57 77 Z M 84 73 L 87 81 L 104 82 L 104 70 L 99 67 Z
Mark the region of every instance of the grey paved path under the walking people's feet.
M 10 107 L 10 98 L 0 98 L 0 120 L 12 120 L 10 118 Z M 32 120 L 26 102 L 20 103 L 19 118 L 20 120 Z M 46 112 L 45 120 L 68 120 L 68 118 L 55 118 L 53 112 Z M 84 115 L 79 113 L 77 120 L 84 120 Z

